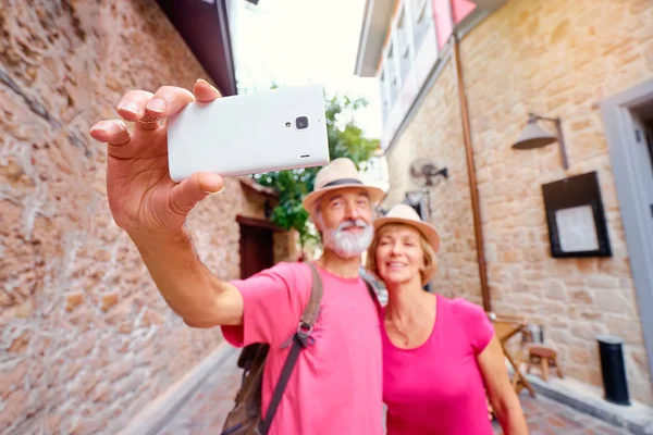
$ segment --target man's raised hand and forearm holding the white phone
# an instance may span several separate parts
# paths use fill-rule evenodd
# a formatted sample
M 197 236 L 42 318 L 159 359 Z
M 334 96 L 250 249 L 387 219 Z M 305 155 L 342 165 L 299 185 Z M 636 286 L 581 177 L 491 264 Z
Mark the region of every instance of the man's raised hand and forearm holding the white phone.
M 134 240 L 168 304 L 192 326 L 237 325 L 243 297 L 199 261 L 183 226 L 195 204 L 224 187 L 213 173 L 174 183 L 168 170 L 165 119 L 193 101 L 213 101 L 220 92 L 197 80 L 193 92 L 163 86 L 151 94 L 126 92 L 118 104 L 122 120 L 95 124 L 90 135 L 108 144 L 107 194 L 115 223 Z

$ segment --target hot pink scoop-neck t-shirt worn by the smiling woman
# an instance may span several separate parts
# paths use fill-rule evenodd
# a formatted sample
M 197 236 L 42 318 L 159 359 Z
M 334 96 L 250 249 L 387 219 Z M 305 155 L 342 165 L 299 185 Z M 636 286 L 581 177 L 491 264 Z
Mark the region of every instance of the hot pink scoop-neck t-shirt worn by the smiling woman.
M 477 362 L 494 335 L 492 323 L 471 302 L 436 299 L 433 332 L 415 349 L 395 347 L 381 316 L 387 434 L 492 435 Z

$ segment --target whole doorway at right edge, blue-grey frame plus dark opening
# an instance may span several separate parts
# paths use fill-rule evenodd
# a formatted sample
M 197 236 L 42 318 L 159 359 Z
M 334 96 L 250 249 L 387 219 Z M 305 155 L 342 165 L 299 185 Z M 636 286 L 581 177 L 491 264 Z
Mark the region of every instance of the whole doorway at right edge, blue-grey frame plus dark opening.
M 601 114 L 653 378 L 653 79 L 604 100 Z

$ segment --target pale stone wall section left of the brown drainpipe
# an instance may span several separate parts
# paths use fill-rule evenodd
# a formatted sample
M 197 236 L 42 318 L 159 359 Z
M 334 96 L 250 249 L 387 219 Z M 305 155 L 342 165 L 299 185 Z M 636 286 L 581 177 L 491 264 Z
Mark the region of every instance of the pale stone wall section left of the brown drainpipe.
M 387 153 L 391 187 L 382 206 L 389 209 L 402 202 L 406 191 L 420 188 L 409 176 L 408 167 L 414 160 L 427 159 L 439 167 L 446 166 L 448 178 L 434 178 L 436 186 L 430 194 L 431 222 L 441 236 L 440 272 L 432 281 L 433 289 L 445 296 L 482 303 L 463 144 L 455 70 L 448 62 L 410 126 Z

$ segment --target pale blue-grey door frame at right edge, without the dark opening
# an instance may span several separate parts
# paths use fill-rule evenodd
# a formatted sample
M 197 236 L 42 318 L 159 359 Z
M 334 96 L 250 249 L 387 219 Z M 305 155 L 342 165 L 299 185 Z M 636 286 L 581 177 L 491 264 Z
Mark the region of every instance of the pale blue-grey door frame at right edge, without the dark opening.
M 632 111 L 642 104 L 653 104 L 653 79 L 609 97 L 601 102 L 601 114 L 609 147 L 611 163 L 617 189 L 626 246 L 649 359 L 649 373 L 653 380 L 653 243 L 641 236 L 651 222 L 651 211 L 642 203 L 643 188 L 633 174 L 638 161 L 633 147 L 639 146 L 634 135 Z M 653 381 L 652 381 L 653 383 Z

